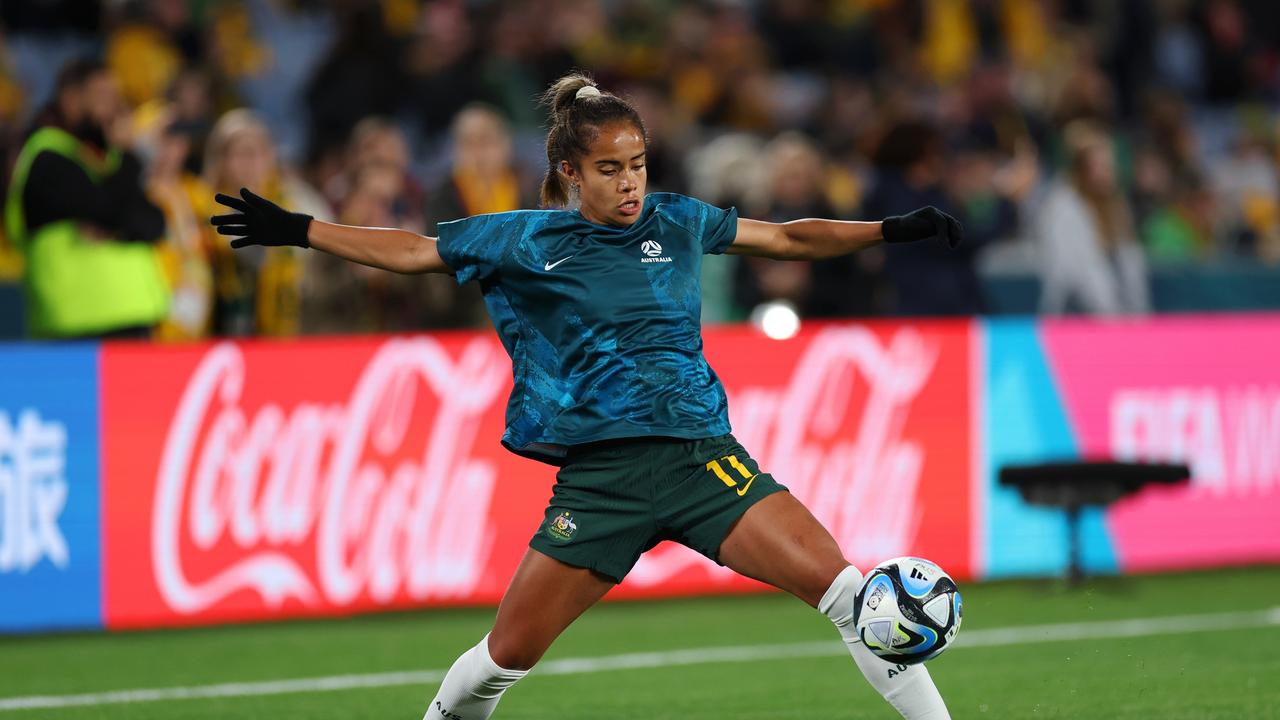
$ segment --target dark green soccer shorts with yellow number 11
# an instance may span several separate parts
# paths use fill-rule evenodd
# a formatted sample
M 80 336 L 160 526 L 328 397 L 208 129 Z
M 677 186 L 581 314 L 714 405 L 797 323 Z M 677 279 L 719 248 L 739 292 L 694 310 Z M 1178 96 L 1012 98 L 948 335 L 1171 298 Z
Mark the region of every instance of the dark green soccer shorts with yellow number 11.
M 733 436 L 590 443 L 570 451 L 529 546 L 618 582 L 664 539 L 719 562 L 733 523 L 785 489 Z

